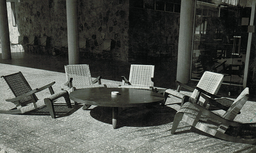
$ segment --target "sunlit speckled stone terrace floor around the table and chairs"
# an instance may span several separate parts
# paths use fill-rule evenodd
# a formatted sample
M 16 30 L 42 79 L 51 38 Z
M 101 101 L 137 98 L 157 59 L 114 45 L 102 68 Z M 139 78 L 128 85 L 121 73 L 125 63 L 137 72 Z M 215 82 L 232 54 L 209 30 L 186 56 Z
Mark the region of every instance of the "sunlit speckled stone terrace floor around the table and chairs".
M 38 61 L 47 59 L 38 56 Z M 15 59 L 12 62 L 15 63 Z M 29 61 L 19 62 L 29 65 Z M 63 72 L 17 65 L 0 64 L 0 76 L 21 71 L 33 89 L 52 81 L 56 81 L 54 91 L 64 87 Z M 108 87 L 117 87 L 120 83 L 102 80 Z M 48 91 L 44 91 L 37 96 L 40 99 L 47 94 Z M 5 89 L 0 86 L 0 110 L 14 107 L 5 102 L 7 98 Z M 26 114 L 0 114 L 0 149 L 9 153 L 254 153 L 256 150 L 255 145 L 223 141 L 184 122 L 174 135 L 170 134 L 174 115 L 180 107 L 180 99 L 175 97 L 168 98 L 164 107 L 120 108 L 117 129 L 111 125 L 111 108 L 92 106 L 84 111 L 81 104 L 68 108 L 64 102 L 64 98 L 56 102 L 56 119 L 50 117 L 46 107 Z M 248 101 L 235 120 L 256 122 L 255 113 L 256 103 Z

